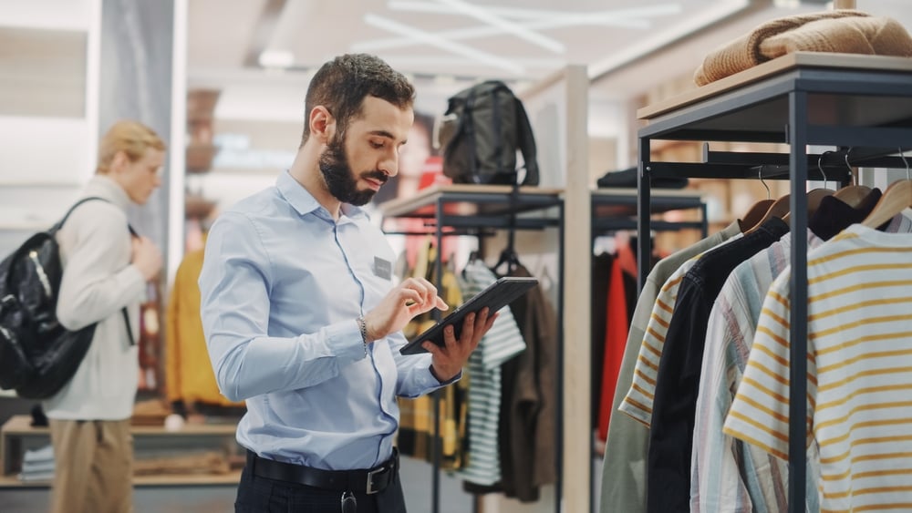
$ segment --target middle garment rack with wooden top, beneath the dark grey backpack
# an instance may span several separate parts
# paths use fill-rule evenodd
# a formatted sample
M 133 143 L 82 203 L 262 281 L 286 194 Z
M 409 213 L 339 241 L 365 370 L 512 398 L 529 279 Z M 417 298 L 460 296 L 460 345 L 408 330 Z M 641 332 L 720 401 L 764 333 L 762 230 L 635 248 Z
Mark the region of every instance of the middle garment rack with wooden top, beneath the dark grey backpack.
M 420 219 L 423 220 L 423 231 L 409 231 L 407 234 L 433 233 L 437 247 L 441 248 L 441 241 L 445 236 L 475 235 L 483 236 L 493 230 L 510 230 L 511 243 L 513 230 L 544 230 L 556 229 L 557 237 L 557 333 L 556 343 L 558 361 L 555 375 L 555 437 L 556 447 L 556 482 L 554 483 L 554 511 L 561 511 L 561 466 L 563 454 L 564 425 L 563 425 L 563 393 L 564 393 L 564 342 L 563 342 L 563 301 L 564 283 L 560 279 L 564 275 L 564 200 L 560 190 L 544 188 L 515 188 L 510 186 L 477 186 L 477 185 L 451 185 L 432 187 L 419 191 L 411 198 L 393 200 L 382 206 L 384 220 L 387 219 Z M 396 233 L 397 231 L 387 231 Z M 442 255 L 436 251 L 437 276 L 436 281 L 442 281 Z M 433 395 L 434 405 L 434 461 L 431 513 L 440 511 L 440 395 Z

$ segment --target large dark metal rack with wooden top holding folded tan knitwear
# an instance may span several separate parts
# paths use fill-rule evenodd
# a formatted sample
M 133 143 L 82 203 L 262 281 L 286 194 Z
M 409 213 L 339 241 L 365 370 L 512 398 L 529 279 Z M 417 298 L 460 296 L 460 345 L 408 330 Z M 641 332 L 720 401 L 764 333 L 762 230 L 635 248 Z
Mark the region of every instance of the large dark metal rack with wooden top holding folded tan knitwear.
M 639 269 L 650 254 L 650 180 L 691 178 L 791 179 L 792 233 L 807 231 L 805 182 L 834 180 L 831 171 L 853 166 L 905 167 L 885 157 L 912 146 L 912 59 L 795 53 L 641 109 L 639 130 Z M 717 154 L 703 163 L 653 162 L 654 139 L 788 143 L 790 153 Z M 808 145 L 834 146 L 809 155 Z M 813 162 L 813 164 L 812 164 Z M 782 164 L 787 173 L 782 174 Z M 772 171 L 772 172 L 771 172 Z M 645 235 L 645 236 L 644 236 Z M 792 238 L 791 362 L 789 401 L 789 511 L 804 510 L 807 410 L 807 241 Z M 642 288 L 645 272 L 640 272 Z

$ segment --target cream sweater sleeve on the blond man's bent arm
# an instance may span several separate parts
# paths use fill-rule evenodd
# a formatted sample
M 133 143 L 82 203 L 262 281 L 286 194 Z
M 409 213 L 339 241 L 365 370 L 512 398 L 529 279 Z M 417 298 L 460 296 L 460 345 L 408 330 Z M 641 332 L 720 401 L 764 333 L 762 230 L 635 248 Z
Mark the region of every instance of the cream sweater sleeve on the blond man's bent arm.
M 119 261 L 123 248 L 118 246 L 128 237 L 126 219 L 112 215 L 116 208 L 94 203 L 74 211 L 69 220 L 75 233 L 60 281 L 57 319 L 72 331 L 107 319 L 139 301 L 145 290 L 140 270 Z

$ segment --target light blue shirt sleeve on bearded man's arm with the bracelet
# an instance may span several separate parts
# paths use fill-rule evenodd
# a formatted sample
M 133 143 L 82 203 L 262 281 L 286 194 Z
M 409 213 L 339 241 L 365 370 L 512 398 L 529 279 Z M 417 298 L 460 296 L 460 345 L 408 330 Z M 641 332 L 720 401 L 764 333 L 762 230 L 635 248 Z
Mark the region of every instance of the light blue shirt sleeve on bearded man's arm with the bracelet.
M 269 336 L 274 276 L 269 255 L 244 215 L 223 214 L 205 251 L 199 280 L 202 326 L 216 381 L 229 399 L 317 385 L 365 357 L 355 319 L 316 333 Z

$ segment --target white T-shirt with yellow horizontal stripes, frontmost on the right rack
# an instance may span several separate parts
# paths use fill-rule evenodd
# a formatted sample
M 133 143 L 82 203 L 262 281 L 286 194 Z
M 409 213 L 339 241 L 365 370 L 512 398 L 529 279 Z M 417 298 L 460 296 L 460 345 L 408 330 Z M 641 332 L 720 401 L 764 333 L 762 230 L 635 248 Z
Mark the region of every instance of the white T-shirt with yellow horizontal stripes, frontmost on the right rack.
M 903 343 L 912 339 L 912 236 L 852 225 L 808 254 L 807 273 L 806 422 L 819 446 L 821 511 L 909 510 L 912 348 Z M 767 292 L 724 426 L 782 459 L 789 276 Z

